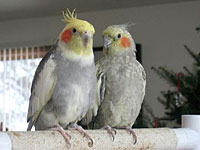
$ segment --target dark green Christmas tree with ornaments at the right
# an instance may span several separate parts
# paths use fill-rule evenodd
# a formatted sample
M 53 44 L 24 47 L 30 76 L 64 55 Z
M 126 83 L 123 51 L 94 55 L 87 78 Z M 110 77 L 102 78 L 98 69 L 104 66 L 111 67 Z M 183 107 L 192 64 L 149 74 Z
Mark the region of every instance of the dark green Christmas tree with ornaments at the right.
M 200 27 L 196 31 L 200 31 Z M 162 98 L 158 97 L 166 109 L 166 116 L 159 118 L 159 122 L 176 121 L 178 126 L 181 115 L 200 114 L 200 53 L 194 53 L 186 45 L 184 48 L 194 59 L 192 69 L 184 66 L 184 71 L 177 73 L 167 67 L 152 67 L 157 75 L 174 87 L 174 90 L 161 91 Z

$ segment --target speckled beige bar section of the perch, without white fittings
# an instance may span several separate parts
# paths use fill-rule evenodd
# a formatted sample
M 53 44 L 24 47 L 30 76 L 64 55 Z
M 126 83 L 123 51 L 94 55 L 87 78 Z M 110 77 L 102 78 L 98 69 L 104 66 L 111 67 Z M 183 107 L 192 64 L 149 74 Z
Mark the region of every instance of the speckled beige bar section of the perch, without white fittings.
M 72 150 L 175 150 L 177 137 L 172 129 L 135 129 L 138 141 L 134 145 L 132 135 L 125 130 L 117 130 L 112 142 L 105 130 L 86 130 L 93 138 L 93 147 L 88 140 L 75 130 L 67 131 L 71 135 Z M 7 133 L 12 141 L 12 150 L 67 150 L 66 142 L 58 131 L 0 132 Z M 0 150 L 11 150 L 2 149 Z

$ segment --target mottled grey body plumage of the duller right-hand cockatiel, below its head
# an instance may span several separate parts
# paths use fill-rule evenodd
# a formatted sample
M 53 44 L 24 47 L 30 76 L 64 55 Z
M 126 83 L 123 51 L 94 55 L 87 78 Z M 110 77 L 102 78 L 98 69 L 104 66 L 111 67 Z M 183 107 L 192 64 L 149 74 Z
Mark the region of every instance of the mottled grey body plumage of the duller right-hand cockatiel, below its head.
M 105 72 L 104 100 L 94 119 L 94 128 L 132 126 L 144 98 L 145 72 L 133 51 L 119 56 L 105 56 L 99 62 Z

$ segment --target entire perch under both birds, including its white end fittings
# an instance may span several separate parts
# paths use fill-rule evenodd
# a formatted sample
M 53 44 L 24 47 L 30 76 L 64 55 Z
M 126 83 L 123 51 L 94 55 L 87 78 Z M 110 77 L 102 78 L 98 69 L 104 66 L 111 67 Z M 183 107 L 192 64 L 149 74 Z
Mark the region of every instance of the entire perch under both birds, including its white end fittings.
M 179 129 L 135 129 L 138 141 L 127 131 L 117 130 L 112 142 L 105 130 L 86 130 L 94 139 L 93 147 L 77 131 L 68 130 L 73 150 L 200 150 L 200 115 L 182 116 Z M 64 150 L 69 149 L 57 131 L 0 132 L 0 150 Z

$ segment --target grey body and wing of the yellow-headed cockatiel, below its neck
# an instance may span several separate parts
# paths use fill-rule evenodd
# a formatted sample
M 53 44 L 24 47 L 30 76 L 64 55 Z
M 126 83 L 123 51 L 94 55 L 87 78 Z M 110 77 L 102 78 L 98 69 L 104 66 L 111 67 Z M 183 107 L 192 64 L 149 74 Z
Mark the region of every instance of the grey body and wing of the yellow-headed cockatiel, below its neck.
M 60 125 L 68 128 L 93 106 L 96 91 L 94 63 L 68 60 L 58 48 L 50 50 L 34 76 L 27 121 L 28 130 Z

